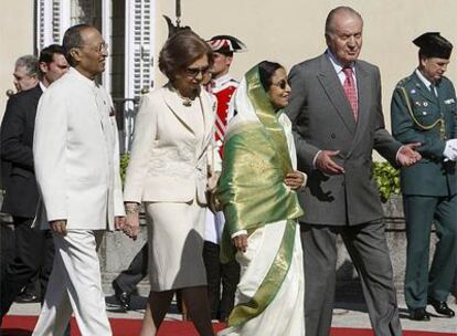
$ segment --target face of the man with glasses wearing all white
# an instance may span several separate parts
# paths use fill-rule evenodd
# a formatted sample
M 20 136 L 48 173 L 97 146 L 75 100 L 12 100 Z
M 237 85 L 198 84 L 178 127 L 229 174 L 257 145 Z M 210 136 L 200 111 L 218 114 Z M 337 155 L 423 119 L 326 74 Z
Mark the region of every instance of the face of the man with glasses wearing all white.
M 105 71 L 105 61 L 108 56 L 108 46 L 95 28 L 87 28 L 81 32 L 83 45 L 76 54 L 76 69 L 85 76 L 94 80 Z

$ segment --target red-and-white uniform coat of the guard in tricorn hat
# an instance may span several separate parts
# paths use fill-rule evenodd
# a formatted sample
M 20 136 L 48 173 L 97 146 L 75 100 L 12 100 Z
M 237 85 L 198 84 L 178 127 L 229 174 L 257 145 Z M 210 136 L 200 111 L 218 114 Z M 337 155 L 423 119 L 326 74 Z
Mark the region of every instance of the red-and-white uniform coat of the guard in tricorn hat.
M 216 116 L 216 133 L 215 140 L 219 146 L 219 153 L 223 157 L 223 140 L 228 119 L 228 105 L 232 96 L 238 87 L 238 82 L 230 74 L 225 74 L 219 78 L 212 80 L 208 85 L 208 91 L 217 98 L 217 116 Z

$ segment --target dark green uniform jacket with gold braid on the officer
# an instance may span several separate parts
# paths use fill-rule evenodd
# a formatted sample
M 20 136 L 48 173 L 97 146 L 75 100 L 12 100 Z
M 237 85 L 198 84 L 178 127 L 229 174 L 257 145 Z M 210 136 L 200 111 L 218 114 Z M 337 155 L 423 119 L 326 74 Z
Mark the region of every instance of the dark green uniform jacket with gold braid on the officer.
M 444 137 L 440 124 L 423 129 L 413 122 L 431 126 L 437 119 L 445 120 Z M 402 168 L 401 188 L 403 195 L 445 197 L 457 193 L 457 170 L 453 161 L 444 161 L 445 139 L 457 138 L 457 98 L 453 83 L 443 77 L 436 86 L 438 98 L 414 72 L 396 85 L 392 96 L 392 133 L 404 143 L 421 143 L 417 149 L 423 159 L 416 165 Z

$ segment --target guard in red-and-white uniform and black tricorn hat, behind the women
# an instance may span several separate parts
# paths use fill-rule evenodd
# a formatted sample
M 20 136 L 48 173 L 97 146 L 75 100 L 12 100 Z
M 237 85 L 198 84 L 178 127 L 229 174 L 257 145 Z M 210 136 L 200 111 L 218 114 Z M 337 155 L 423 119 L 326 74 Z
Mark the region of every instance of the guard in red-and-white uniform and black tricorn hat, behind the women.
M 214 63 L 211 67 L 211 81 L 206 90 L 217 99 L 217 116 L 215 118 L 219 155 L 223 157 L 223 140 L 227 123 L 228 105 L 238 82 L 228 73 L 233 61 L 233 53 L 243 52 L 246 46 L 238 39 L 230 35 L 216 35 L 206 41 L 213 50 Z M 217 155 L 217 154 L 215 154 Z M 206 267 L 208 292 L 213 319 L 226 321 L 232 312 L 236 285 L 240 281 L 240 266 L 234 261 L 221 264 L 219 260 L 221 234 L 224 227 L 224 214 L 220 212 L 206 213 L 203 260 Z M 221 294 L 222 283 L 222 294 Z

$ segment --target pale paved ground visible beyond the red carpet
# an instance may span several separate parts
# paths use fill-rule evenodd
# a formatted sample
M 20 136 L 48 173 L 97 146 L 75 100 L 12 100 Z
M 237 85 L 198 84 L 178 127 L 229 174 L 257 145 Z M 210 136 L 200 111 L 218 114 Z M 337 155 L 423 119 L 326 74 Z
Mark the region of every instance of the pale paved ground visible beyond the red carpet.
M 132 297 L 132 307 L 136 311 L 128 313 L 119 313 L 115 306 L 113 296 L 107 296 L 107 309 L 108 316 L 111 318 L 142 318 L 144 307 L 146 304 L 146 297 L 135 296 Z M 451 298 L 454 302 L 454 298 Z M 427 332 L 442 332 L 442 333 L 455 333 L 457 336 L 457 317 L 443 318 L 432 317 L 429 322 L 414 322 L 407 318 L 407 311 L 403 302 L 403 297 L 398 298 L 400 313 L 402 319 L 402 326 L 405 330 L 427 330 Z M 449 307 L 457 312 L 457 304 L 449 302 Z M 427 307 L 429 313 L 434 313 L 432 306 Z M 11 307 L 11 315 L 38 315 L 40 312 L 39 304 L 14 304 Z M 170 313 L 167 315 L 170 319 L 181 319 L 181 315 Z M 333 313 L 333 327 L 351 327 L 351 328 L 370 328 L 370 321 L 365 313 L 364 304 L 354 303 L 339 303 Z

